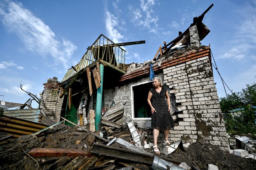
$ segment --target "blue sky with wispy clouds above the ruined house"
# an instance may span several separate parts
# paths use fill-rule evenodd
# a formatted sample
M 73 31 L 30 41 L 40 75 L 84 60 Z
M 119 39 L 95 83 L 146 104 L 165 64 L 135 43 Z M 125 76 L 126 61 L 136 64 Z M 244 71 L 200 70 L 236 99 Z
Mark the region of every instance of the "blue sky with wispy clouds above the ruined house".
M 38 94 L 48 78 L 61 80 L 101 33 L 115 43 L 146 41 L 126 46 L 127 64 L 153 59 L 212 3 L 203 20 L 211 32 L 201 43 L 210 44 L 224 81 L 239 92 L 256 79 L 255 0 L 0 0 L 0 100 L 26 102 L 20 82 Z M 225 97 L 215 70 L 214 81 Z

